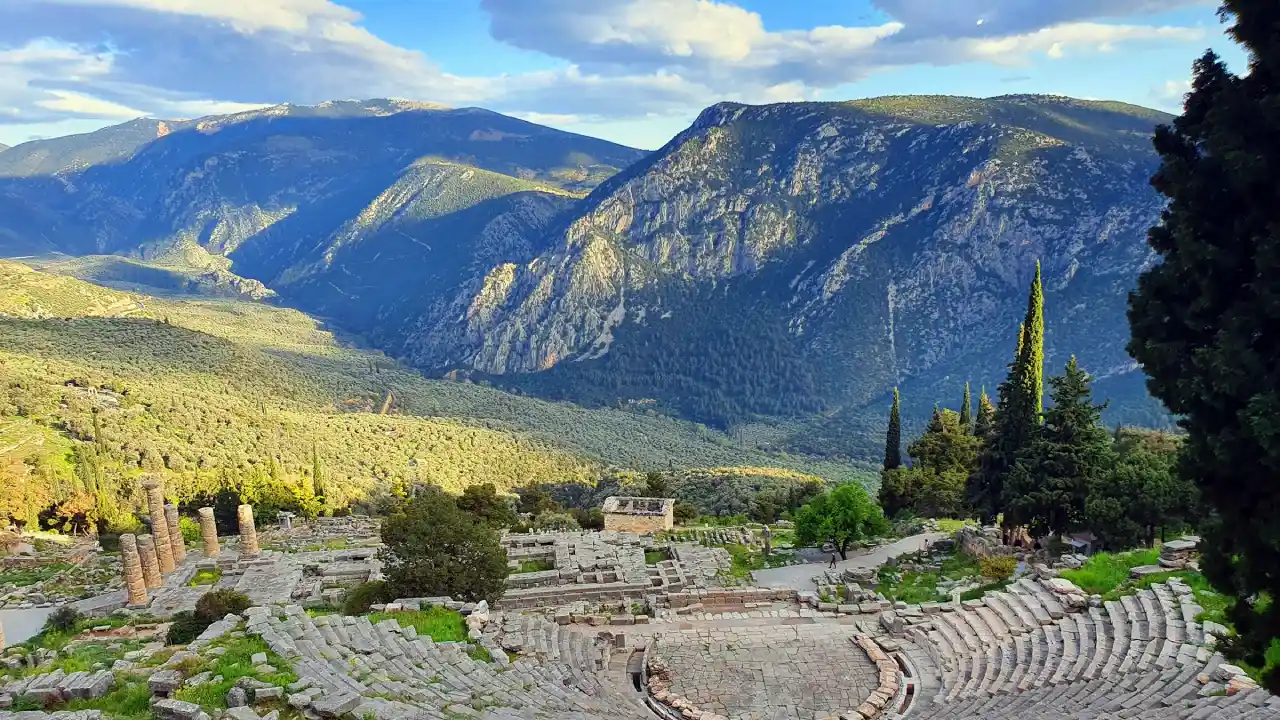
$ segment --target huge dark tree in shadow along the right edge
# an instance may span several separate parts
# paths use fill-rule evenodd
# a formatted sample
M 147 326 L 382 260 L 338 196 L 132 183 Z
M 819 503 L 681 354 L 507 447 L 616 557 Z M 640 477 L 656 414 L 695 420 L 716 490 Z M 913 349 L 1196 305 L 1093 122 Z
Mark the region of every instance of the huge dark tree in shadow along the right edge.
M 1236 598 L 1226 655 L 1263 666 L 1280 638 L 1280 6 L 1220 13 L 1249 72 L 1204 53 L 1183 114 L 1156 128 L 1169 204 L 1148 234 L 1161 261 L 1129 299 L 1129 352 L 1187 429 L 1179 473 L 1212 511 L 1201 568 Z M 1280 692 L 1280 666 L 1262 680 Z

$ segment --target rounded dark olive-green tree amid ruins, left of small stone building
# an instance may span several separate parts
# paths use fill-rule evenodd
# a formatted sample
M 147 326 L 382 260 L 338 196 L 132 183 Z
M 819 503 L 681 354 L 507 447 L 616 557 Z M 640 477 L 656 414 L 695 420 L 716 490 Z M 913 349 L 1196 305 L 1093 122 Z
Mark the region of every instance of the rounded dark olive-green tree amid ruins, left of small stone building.
M 507 582 L 498 530 L 428 488 L 383 521 L 383 573 L 396 597 L 497 600 Z

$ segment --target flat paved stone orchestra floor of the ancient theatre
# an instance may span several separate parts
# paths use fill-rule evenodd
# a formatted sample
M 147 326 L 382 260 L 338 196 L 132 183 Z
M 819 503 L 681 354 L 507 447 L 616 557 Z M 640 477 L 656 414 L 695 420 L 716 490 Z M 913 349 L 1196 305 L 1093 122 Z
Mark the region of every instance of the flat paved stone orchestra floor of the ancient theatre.
M 664 632 L 657 653 L 671 692 L 733 720 L 847 714 L 876 689 L 876 665 L 851 628 L 790 625 Z

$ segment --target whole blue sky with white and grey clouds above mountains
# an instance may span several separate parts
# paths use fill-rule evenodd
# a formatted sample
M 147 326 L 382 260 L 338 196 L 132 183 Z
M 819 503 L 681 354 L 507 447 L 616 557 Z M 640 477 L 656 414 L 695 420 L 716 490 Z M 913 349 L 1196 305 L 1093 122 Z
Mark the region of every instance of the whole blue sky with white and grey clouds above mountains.
M 655 149 L 723 100 L 1052 94 L 1178 111 L 1206 0 L 0 0 L 0 143 L 398 97 Z

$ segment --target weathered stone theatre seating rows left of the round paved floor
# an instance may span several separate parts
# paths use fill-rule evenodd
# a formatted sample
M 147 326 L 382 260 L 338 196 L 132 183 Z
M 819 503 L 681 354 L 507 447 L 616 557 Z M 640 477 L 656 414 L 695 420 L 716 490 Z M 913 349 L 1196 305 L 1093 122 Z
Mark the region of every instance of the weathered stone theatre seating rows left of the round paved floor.
M 298 683 L 288 702 L 308 717 L 646 719 L 637 696 L 600 680 L 586 638 L 543 621 L 530 632 L 543 655 L 509 659 L 490 647 L 476 660 L 466 643 L 433 642 L 394 619 L 251 615 L 247 629 L 291 660 Z

